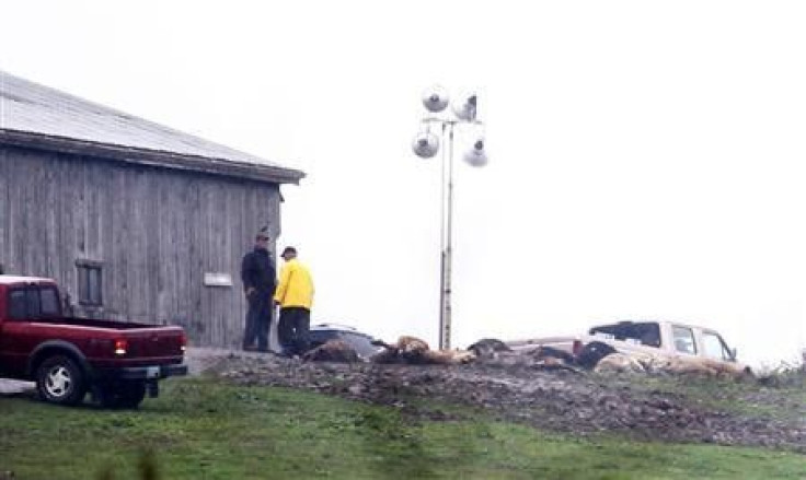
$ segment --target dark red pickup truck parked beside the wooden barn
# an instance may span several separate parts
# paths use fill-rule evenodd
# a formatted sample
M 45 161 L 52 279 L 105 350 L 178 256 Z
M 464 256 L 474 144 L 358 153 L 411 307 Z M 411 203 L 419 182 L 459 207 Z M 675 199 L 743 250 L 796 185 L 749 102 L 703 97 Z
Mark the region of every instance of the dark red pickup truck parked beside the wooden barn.
M 36 382 L 46 401 L 137 408 L 157 381 L 186 375 L 182 327 L 71 318 L 50 279 L 0 274 L 0 376 Z

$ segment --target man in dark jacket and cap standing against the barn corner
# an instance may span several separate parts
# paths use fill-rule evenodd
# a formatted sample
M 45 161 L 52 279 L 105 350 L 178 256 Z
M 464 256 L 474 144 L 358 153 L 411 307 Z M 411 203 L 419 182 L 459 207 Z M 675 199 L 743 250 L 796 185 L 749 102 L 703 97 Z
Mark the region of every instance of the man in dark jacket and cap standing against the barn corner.
M 243 333 L 243 350 L 268 351 L 268 327 L 272 325 L 272 297 L 277 276 L 268 253 L 268 227 L 263 227 L 255 237 L 255 248 L 243 256 L 241 280 L 246 295 L 246 328 Z

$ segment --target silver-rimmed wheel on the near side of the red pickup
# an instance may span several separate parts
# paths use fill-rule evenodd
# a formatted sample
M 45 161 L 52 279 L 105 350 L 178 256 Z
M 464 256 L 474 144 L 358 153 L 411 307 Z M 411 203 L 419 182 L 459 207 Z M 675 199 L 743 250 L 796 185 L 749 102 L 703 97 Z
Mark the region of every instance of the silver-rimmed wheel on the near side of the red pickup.
M 47 402 L 77 405 L 87 394 L 84 372 L 68 356 L 49 356 L 36 370 L 36 389 Z

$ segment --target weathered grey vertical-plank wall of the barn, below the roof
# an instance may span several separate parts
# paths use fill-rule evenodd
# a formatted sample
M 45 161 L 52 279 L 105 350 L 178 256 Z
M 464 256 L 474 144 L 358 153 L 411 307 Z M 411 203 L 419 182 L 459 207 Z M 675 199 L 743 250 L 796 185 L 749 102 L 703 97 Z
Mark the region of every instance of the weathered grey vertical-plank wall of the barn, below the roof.
M 78 304 L 76 261 L 101 261 L 103 307 L 78 315 L 179 324 L 194 344 L 235 347 L 241 258 L 260 225 L 278 236 L 279 203 L 275 184 L 0 145 L 0 265 L 57 279 Z M 205 286 L 205 272 L 233 284 Z

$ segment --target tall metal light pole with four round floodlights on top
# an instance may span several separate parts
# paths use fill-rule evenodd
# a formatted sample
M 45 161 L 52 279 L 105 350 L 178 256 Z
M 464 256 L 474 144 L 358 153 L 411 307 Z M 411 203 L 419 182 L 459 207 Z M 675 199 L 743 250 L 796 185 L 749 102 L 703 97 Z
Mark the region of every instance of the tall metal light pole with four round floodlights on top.
M 476 119 L 476 95 L 469 94 L 460 98 L 460 104 L 453 105 L 452 116 L 427 117 L 421 122 L 423 131 L 414 139 L 413 149 L 417 156 L 430 159 L 442 149 L 442 189 L 441 189 L 441 225 L 440 225 L 440 271 L 439 271 L 439 348 L 450 349 L 451 333 L 451 277 L 453 267 L 453 130 L 458 125 L 482 126 Z M 423 95 L 423 104 L 433 114 L 438 114 L 448 106 L 448 95 L 440 87 L 433 87 Z M 438 125 L 440 136 L 430 131 L 433 125 Z M 447 159 L 446 159 L 447 156 Z M 472 166 L 483 166 L 487 162 L 484 150 L 484 137 L 475 132 L 473 145 L 464 154 L 464 160 Z

